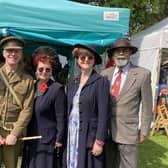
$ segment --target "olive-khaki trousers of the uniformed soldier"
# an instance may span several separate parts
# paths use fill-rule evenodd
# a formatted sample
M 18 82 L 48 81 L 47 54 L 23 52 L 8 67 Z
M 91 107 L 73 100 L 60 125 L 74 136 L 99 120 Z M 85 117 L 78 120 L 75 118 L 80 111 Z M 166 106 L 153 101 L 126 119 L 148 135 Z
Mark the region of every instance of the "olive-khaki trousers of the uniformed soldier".
M 0 128 L 0 135 L 4 138 L 9 134 L 8 131 Z M 16 145 L 1 145 L 0 146 L 0 164 L 4 164 L 5 168 L 16 168 L 18 157 L 20 154 L 20 144 Z

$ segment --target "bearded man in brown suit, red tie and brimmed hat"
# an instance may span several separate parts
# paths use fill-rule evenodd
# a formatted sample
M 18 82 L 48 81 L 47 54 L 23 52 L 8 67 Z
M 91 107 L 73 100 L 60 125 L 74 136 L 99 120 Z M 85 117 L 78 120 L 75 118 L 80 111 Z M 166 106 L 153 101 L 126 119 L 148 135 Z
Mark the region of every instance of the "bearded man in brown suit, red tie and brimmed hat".
M 137 48 L 127 38 L 116 40 L 108 50 L 116 66 L 102 72 L 111 83 L 110 90 L 113 89 L 112 139 L 111 148 L 108 147 L 109 154 L 106 156 L 108 168 L 137 168 L 138 144 L 147 137 L 153 118 L 151 73 L 130 62 L 130 56 L 136 51 Z M 113 93 L 118 91 L 114 83 L 119 71 L 120 87 L 118 95 L 115 95 Z

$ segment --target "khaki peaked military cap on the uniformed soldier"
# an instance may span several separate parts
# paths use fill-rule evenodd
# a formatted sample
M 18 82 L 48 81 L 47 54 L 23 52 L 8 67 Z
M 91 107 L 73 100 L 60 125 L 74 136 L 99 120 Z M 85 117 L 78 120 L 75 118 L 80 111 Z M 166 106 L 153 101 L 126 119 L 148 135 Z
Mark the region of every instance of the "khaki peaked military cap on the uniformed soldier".
M 17 38 L 15 36 L 4 37 L 0 41 L 0 45 L 5 50 L 8 50 L 8 49 L 23 49 L 24 44 L 25 44 L 24 40 L 22 40 L 20 38 Z

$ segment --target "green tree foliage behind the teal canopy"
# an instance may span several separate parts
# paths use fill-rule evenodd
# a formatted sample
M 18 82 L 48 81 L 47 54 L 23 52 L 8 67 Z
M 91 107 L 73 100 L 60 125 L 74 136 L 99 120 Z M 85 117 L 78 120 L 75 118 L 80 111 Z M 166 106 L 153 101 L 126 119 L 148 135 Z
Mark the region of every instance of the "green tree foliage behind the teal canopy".
M 168 0 L 74 0 L 98 2 L 100 6 L 129 8 L 130 34 L 137 33 L 168 16 Z

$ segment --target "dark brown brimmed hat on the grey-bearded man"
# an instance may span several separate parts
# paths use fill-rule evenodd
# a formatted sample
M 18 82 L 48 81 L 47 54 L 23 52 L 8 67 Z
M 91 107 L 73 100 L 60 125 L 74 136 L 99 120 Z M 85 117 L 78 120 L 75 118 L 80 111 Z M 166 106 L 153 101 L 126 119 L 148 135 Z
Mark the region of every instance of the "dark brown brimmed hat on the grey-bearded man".
M 129 48 L 132 51 L 132 54 L 138 51 L 137 47 L 131 45 L 128 38 L 119 38 L 107 49 L 109 56 L 112 56 L 113 52 L 118 48 Z

